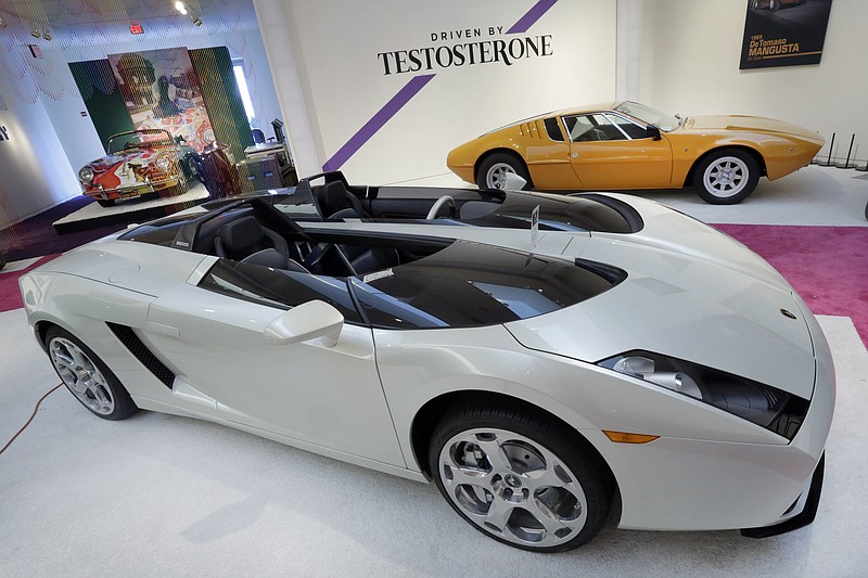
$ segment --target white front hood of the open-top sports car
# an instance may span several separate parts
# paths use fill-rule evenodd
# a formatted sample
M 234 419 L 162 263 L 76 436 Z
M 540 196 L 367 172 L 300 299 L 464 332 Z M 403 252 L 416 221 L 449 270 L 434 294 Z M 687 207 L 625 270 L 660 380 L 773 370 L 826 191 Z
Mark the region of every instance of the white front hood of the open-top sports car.
M 640 233 L 595 233 L 580 254 L 625 270 L 627 279 L 554 314 L 508 324 L 519 343 L 588 362 L 648 350 L 809 399 L 810 313 L 803 313 L 787 282 L 723 233 L 637 201 L 643 217 L 660 215 L 646 218 Z

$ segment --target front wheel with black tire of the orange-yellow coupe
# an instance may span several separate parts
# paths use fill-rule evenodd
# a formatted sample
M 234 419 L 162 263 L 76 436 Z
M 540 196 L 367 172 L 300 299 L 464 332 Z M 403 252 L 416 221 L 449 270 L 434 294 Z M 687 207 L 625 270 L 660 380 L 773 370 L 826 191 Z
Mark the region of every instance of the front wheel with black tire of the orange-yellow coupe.
M 720 149 L 705 156 L 693 170 L 697 194 L 712 205 L 744 201 L 760 182 L 760 165 L 751 153 Z

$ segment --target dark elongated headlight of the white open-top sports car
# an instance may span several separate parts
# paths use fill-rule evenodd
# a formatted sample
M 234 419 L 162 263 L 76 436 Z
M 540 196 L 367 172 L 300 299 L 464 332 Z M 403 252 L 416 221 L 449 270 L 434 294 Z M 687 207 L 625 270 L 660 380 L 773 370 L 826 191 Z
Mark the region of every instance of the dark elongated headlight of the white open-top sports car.
M 692 397 L 790 440 L 809 404 L 770 385 L 649 351 L 629 351 L 598 365 Z

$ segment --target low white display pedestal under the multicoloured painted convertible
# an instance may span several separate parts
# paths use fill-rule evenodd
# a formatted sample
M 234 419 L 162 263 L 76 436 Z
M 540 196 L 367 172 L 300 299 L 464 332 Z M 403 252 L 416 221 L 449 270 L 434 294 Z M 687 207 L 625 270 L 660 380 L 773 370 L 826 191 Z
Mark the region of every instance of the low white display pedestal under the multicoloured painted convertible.
M 94 201 L 51 224 L 54 227 L 54 231 L 62 235 L 110 224 L 124 226 L 132 222 L 144 222 L 200 205 L 209 198 L 210 193 L 205 189 L 205 185 L 196 182 L 194 187 L 182 195 L 158 198 L 129 198 L 118 201 L 112 207 L 101 207 Z

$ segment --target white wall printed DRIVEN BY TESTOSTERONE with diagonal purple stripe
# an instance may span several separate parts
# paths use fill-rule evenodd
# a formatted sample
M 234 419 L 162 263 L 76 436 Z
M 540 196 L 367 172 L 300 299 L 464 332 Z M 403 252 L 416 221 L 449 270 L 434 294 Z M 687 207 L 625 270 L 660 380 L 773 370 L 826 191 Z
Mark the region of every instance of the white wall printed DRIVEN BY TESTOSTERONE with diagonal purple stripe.
M 261 12 L 273 10 L 266 4 L 255 2 L 260 22 Z M 340 165 L 355 182 L 441 175 L 448 171 L 450 149 L 485 131 L 576 103 L 614 100 L 616 1 L 547 4 L 282 0 L 288 29 L 264 26 L 263 34 L 272 69 L 285 55 L 277 53 L 281 39 L 269 37 L 283 34 L 292 40 L 301 90 L 288 87 L 292 82 L 285 78 L 276 78 L 276 85 L 284 110 L 301 93 L 309 116 L 310 154 L 298 151 L 290 126 L 299 175 L 323 165 Z M 506 34 L 535 7 L 538 20 L 518 26 L 523 31 Z M 519 54 L 524 56 L 513 57 Z M 434 76 L 424 82 L 425 75 Z M 382 128 L 368 126 L 354 141 L 393 98 L 413 88 L 418 92 Z M 362 137 L 369 140 L 345 163 L 333 158 L 347 143 L 355 150 L 352 144 Z

